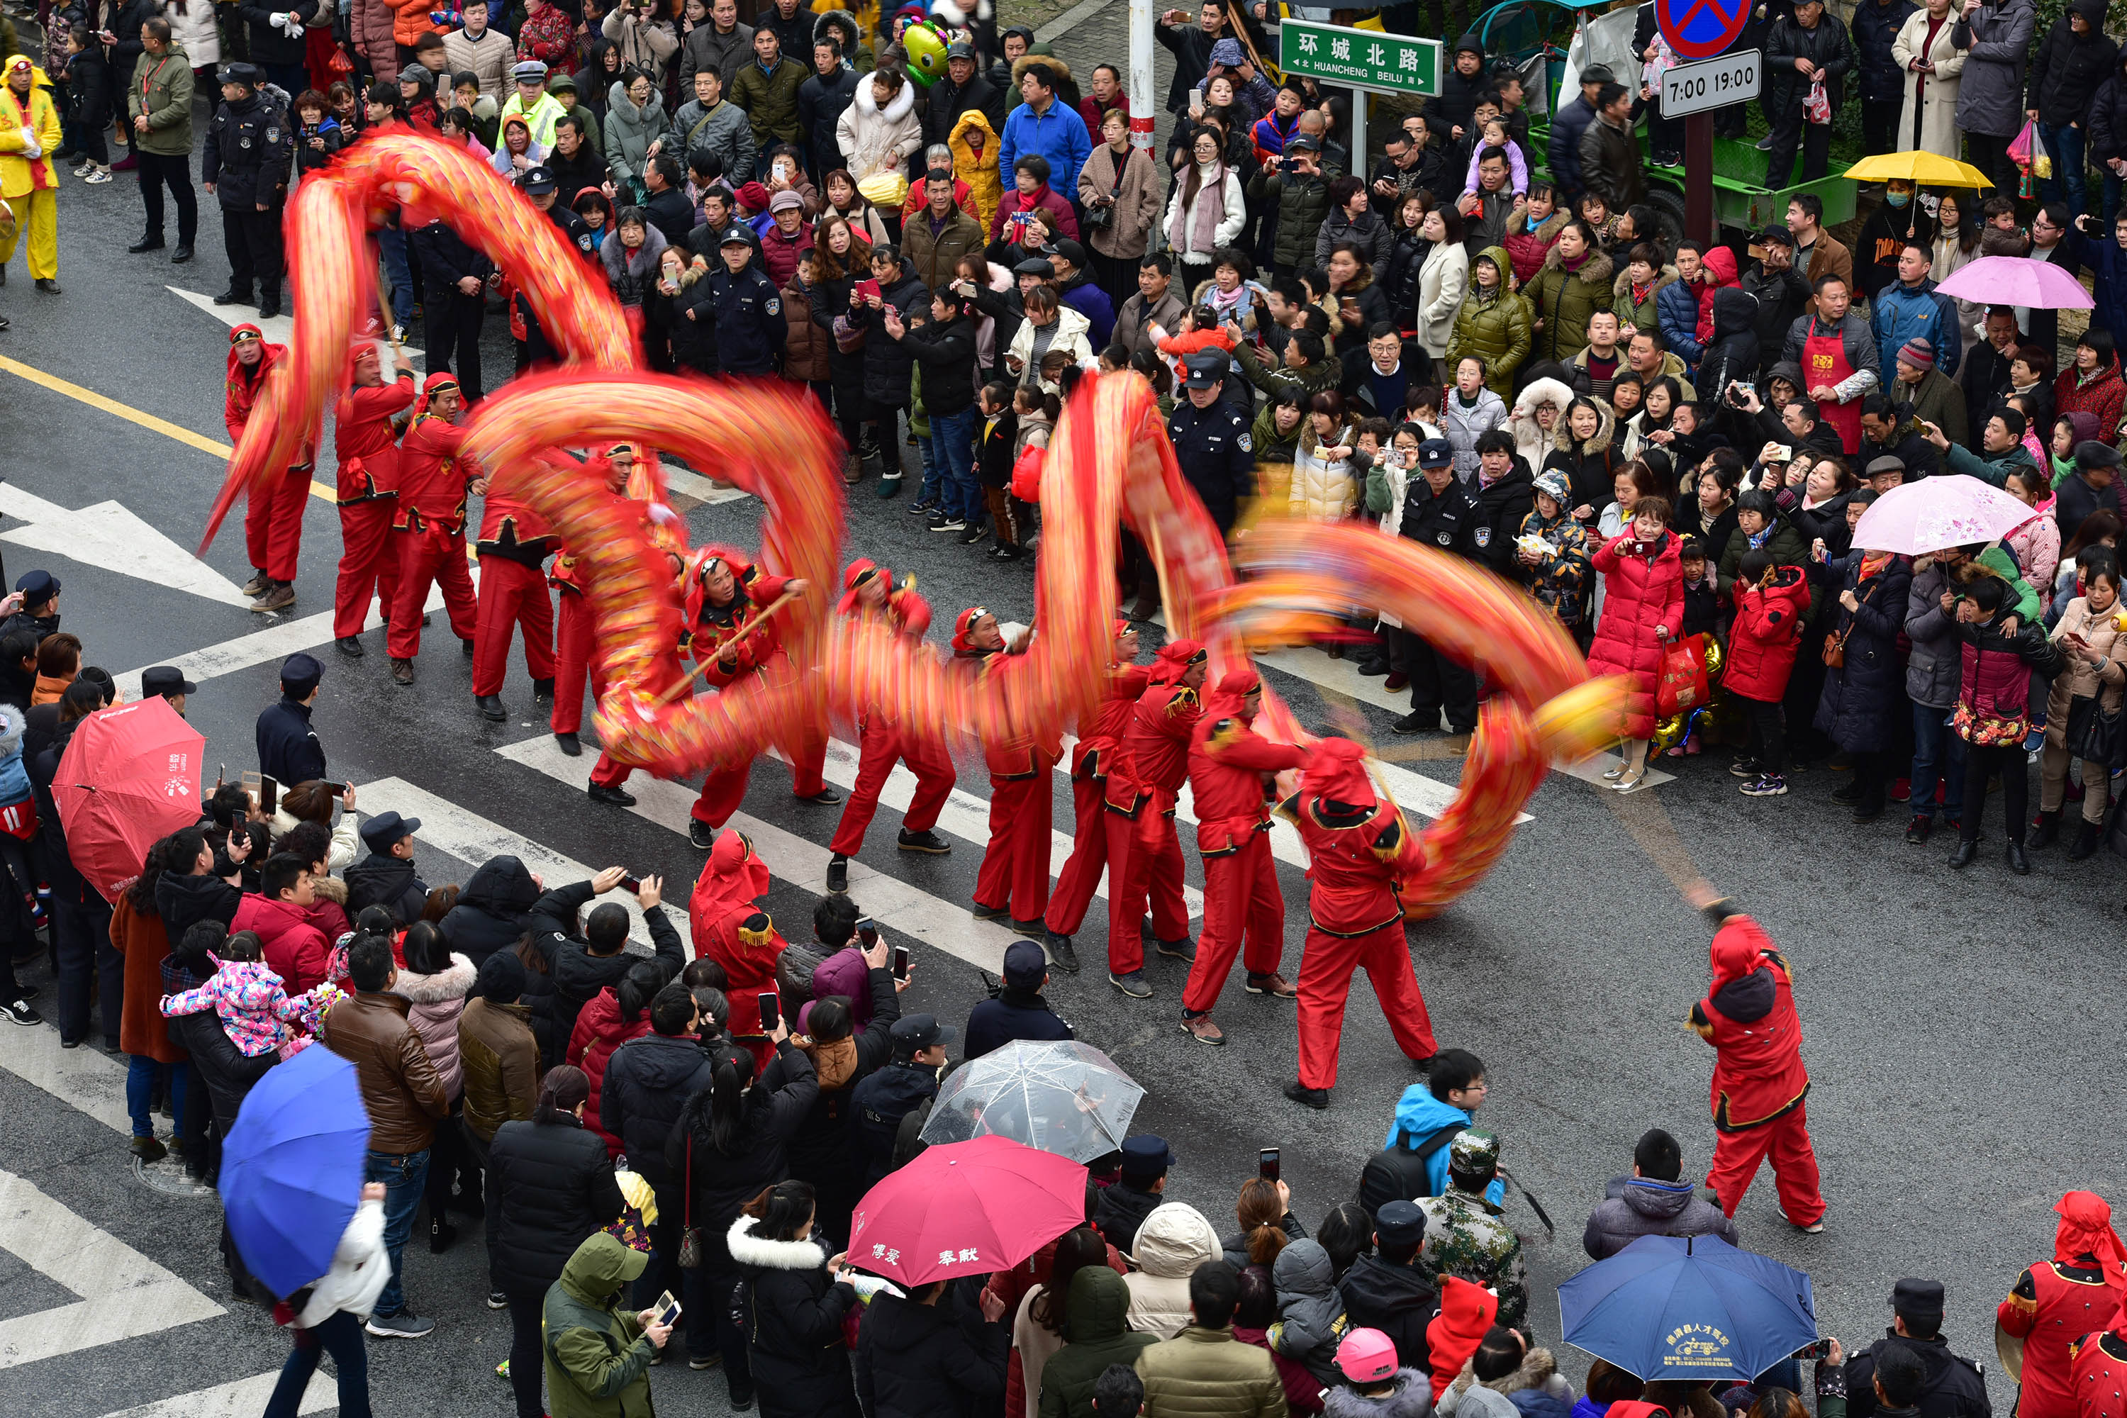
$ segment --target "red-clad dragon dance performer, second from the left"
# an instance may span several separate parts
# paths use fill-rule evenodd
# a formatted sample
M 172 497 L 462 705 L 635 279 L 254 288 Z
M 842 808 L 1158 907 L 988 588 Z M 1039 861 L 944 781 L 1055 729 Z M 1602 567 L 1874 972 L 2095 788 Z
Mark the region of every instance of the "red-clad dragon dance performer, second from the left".
M 368 359 L 364 359 L 364 355 Z M 364 340 L 353 364 L 362 368 L 376 359 L 376 347 Z M 391 415 L 415 400 L 413 374 L 402 372 L 387 385 L 353 385 L 340 395 L 332 417 L 332 451 L 338 457 L 340 508 L 340 585 L 334 595 L 332 634 L 340 651 L 362 653 L 362 623 L 370 614 L 370 595 L 383 617 L 391 619 L 398 600 L 398 561 L 391 546 L 391 510 L 398 502 L 398 432 Z M 415 612 L 415 621 L 419 621 Z

